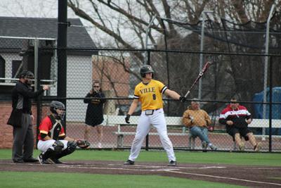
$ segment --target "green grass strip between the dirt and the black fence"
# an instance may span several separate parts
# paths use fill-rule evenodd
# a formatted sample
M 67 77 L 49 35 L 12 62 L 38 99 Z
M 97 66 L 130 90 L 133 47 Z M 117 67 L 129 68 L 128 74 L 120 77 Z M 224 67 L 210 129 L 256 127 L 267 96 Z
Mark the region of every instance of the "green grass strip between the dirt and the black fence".
M 39 151 L 34 150 L 34 156 Z M 70 156 L 62 158 L 79 161 L 126 161 L 129 151 L 93 151 L 77 150 Z M 231 153 L 231 152 L 190 152 L 177 151 L 178 163 L 219 163 L 233 165 L 270 165 L 281 166 L 280 153 Z M 11 159 L 11 149 L 0 149 L 0 159 Z M 168 162 L 164 151 L 141 151 L 138 161 Z

